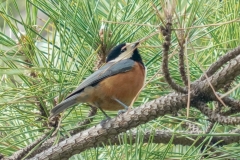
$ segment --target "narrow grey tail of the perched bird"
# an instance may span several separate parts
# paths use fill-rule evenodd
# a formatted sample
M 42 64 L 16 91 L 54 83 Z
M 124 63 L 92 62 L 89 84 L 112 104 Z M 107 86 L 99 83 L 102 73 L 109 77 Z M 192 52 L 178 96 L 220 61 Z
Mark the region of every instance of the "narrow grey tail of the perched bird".
M 52 110 L 51 110 L 51 114 L 50 117 L 54 117 L 57 114 L 61 113 L 62 111 L 64 111 L 65 109 L 73 106 L 74 104 L 78 103 L 77 102 L 77 98 L 79 97 L 78 94 L 73 95 L 67 99 L 65 99 L 64 101 L 62 101 L 61 103 L 59 103 L 58 105 L 56 105 Z

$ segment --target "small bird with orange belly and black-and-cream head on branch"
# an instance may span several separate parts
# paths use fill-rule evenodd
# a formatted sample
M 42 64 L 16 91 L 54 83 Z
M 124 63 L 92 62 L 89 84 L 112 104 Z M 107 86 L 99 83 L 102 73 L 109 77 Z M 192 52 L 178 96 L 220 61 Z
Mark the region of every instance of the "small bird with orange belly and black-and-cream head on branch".
M 104 112 L 126 111 L 138 97 L 146 78 L 146 67 L 138 51 L 139 41 L 121 43 L 110 50 L 106 63 L 87 77 L 51 111 L 54 117 L 69 107 L 88 103 Z

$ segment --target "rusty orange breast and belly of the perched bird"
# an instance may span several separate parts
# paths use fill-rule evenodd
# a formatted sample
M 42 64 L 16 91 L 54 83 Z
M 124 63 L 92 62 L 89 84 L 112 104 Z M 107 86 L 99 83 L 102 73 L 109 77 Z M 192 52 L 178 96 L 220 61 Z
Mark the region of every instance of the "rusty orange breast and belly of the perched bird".
M 108 77 L 99 82 L 94 88 L 94 94 L 89 103 L 104 110 L 121 110 L 122 105 L 113 98 L 117 98 L 129 106 L 144 84 L 145 69 L 140 63 L 135 63 L 127 72 Z

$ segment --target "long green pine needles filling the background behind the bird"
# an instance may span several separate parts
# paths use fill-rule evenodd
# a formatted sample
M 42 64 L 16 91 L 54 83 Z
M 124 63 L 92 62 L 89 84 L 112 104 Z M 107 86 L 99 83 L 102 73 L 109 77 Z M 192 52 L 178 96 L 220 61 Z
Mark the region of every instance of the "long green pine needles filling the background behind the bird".
M 51 134 L 47 117 L 54 98 L 61 101 L 97 68 L 99 55 L 121 42 L 146 38 L 139 50 L 148 68 L 148 84 L 134 106 L 172 92 L 161 71 L 162 42 L 158 27 L 163 24 L 163 0 L 1 0 L 0 1 L 0 153 L 12 155 L 34 142 L 44 133 Z M 158 12 L 154 8 L 157 8 Z M 178 32 L 185 29 L 187 67 L 190 79 L 202 73 L 228 50 L 239 45 L 239 9 L 237 0 L 177 0 L 173 18 L 170 73 L 183 85 L 178 70 Z M 159 18 L 159 15 L 163 19 Z M 99 36 L 104 25 L 103 37 Z M 155 33 L 153 35 L 153 33 Z M 151 37 L 148 37 L 152 35 Z M 239 81 L 237 81 L 239 82 Z M 235 82 L 235 84 L 237 84 Z M 231 93 L 239 97 L 239 90 Z M 210 104 L 214 107 L 213 104 Z M 79 104 L 64 112 L 58 136 L 68 135 L 83 121 L 89 107 Z M 44 113 L 44 114 L 42 114 Z M 116 112 L 107 112 L 116 116 Z M 223 152 L 219 159 L 239 157 L 238 144 L 214 147 L 210 152 L 203 144 L 195 146 L 143 143 L 143 132 L 185 131 L 183 124 L 195 119 L 203 131 L 207 118 L 195 109 L 181 115 L 159 117 L 135 129 L 136 143 L 108 145 L 87 150 L 71 159 L 206 159 Z M 88 126 L 98 124 L 104 116 L 99 112 Z M 215 124 L 205 139 L 234 129 Z M 190 136 L 190 135 L 183 135 Z M 199 135 L 200 137 L 201 135 Z M 209 158 L 210 159 L 210 158 Z

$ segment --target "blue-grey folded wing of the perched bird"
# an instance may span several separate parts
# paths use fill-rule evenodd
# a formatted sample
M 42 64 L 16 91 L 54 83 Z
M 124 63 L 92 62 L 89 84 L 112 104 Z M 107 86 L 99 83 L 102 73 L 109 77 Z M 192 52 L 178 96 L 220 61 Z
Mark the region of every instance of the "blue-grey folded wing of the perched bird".
M 118 62 L 108 62 L 91 74 L 88 78 L 86 78 L 70 95 L 66 97 L 66 99 L 82 92 L 85 87 L 95 85 L 107 77 L 116 75 L 118 73 L 127 72 L 133 66 L 134 61 L 131 59 L 125 59 Z

